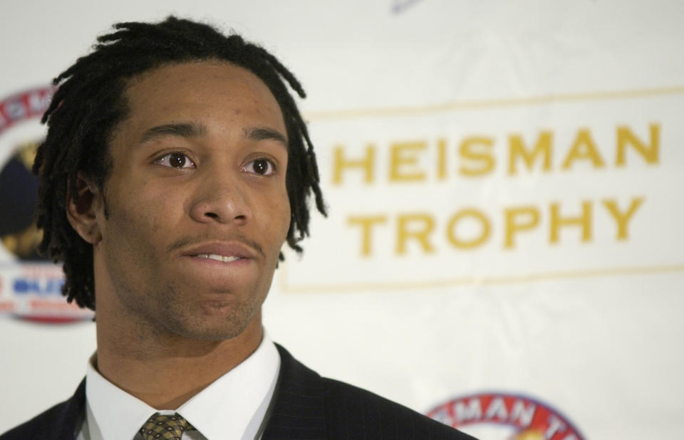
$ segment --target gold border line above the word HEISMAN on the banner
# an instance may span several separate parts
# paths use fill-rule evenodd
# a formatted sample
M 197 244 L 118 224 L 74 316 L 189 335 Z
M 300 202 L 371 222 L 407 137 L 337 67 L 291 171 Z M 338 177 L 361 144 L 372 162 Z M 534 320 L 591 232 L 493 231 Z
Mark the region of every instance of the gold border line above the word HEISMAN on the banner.
M 339 120 L 359 117 L 393 117 L 420 115 L 425 113 L 450 112 L 454 110 L 476 110 L 484 108 L 520 107 L 551 103 L 568 103 L 625 98 L 645 98 L 664 95 L 684 94 L 684 86 L 665 88 L 644 88 L 636 90 L 613 90 L 608 92 L 558 93 L 554 95 L 529 96 L 524 98 L 495 98 L 484 100 L 451 101 L 430 105 L 414 105 L 385 108 L 361 108 L 349 110 L 314 110 L 304 112 L 306 120 Z

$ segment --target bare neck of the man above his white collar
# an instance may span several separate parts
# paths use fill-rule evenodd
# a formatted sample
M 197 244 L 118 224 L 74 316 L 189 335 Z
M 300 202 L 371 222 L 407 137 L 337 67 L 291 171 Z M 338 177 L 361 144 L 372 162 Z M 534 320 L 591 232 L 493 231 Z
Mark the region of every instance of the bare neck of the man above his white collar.
M 103 320 L 105 322 L 103 322 Z M 228 340 L 145 334 L 97 317 L 95 367 L 110 382 L 155 409 L 177 409 L 257 350 L 261 314 Z

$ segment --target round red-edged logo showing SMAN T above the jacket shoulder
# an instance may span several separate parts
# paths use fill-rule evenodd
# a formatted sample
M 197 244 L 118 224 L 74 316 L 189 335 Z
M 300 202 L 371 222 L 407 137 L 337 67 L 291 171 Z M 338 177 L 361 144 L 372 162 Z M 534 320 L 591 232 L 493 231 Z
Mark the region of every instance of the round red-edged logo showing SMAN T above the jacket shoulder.
M 482 439 L 585 440 L 556 409 L 519 394 L 470 394 L 440 404 L 427 416 Z

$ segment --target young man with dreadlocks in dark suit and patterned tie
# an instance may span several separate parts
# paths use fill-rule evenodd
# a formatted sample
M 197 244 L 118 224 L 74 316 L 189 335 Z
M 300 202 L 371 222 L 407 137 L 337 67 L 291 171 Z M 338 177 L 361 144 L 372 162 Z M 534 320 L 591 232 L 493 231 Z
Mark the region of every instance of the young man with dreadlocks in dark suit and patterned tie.
M 312 193 L 325 214 L 294 76 L 201 23 L 115 27 L 56 78 L 34 165 L 42 250 L 98 350 L 71 399 L 0 438 L 470 438 L 264 335 L 281 246 L 301 251 Z

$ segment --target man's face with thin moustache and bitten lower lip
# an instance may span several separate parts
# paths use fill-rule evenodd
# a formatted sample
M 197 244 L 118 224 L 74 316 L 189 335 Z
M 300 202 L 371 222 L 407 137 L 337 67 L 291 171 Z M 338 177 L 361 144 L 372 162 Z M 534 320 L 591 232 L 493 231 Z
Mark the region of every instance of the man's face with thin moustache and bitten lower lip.
M 286 127 L 269 88 L 223 62 L 134 78 L 97 212 L 98 315 L 224 340 L 253 320 L 289 228 Z

